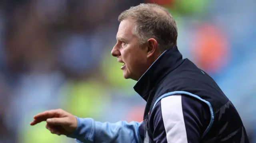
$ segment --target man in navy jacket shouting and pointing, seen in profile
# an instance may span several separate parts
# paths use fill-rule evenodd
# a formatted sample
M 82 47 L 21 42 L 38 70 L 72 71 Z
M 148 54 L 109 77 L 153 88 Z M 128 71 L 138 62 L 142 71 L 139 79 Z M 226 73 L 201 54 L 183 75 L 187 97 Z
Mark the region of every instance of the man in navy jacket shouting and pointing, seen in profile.
M 248 143 L 233 104 L 216 82 L 176 47 L 177 27 L 168 11 L 140 4 L 120 14 L 112 55 L 124 78 L 146 100 L 144 121 L 100 123 L 63 110 L 34 116 L 35 125 L 81 143 Z

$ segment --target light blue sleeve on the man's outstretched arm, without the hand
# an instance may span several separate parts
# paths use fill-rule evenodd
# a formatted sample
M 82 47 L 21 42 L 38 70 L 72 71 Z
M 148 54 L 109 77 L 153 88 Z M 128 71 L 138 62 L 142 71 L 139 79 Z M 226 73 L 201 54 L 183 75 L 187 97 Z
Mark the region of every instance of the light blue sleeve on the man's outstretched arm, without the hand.
M 138 128 L 142 122 L 98 122 L 91 118 L 76 118 L 78 127 L 67 137 L 78 143 L 142 143 Z

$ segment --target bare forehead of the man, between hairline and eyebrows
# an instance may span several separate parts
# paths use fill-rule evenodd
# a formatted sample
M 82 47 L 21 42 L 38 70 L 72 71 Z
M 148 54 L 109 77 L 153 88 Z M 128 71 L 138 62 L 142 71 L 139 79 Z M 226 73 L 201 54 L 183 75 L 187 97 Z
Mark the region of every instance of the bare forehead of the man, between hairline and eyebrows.
M 122 22 L 120 22 L 118 32 L 116 34 L 116 39 L 132 39 L 132 37 L 134 37 L 134 35 L 132 34 L 133 27 L 134 22 L 132 22 L 132 20 L 123 20 Z

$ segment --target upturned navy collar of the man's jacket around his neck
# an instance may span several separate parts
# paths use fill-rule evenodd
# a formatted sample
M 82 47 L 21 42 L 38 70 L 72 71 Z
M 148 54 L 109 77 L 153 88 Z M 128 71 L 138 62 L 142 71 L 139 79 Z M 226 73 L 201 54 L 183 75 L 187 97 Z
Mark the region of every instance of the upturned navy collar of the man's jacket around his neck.
M 160 82 L 166 74 L 174 70 L 182 61 L 182 55 L 175 46 L 162 53 L 148 68 L 148 70 L 140 77 L 138 82 L 134 85 L 134 90 L 142 96 L 144 100 L 148 100 L 146 95 L 150 90 Z

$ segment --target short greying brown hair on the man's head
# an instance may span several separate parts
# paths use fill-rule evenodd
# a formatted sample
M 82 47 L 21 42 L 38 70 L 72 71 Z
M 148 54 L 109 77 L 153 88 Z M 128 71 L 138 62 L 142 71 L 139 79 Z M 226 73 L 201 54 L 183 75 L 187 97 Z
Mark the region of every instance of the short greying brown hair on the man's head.
M 118 21 L 132 19 L 135 22 L 132 33 L 140 44 L 150 38 L 156 39 L 161 52 L 177 45 L 178 29 L 168 10 L 157 4 L 132 6 L 118 16 Z

